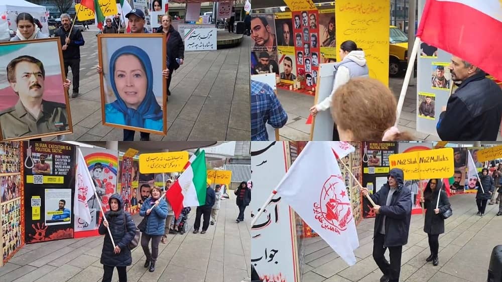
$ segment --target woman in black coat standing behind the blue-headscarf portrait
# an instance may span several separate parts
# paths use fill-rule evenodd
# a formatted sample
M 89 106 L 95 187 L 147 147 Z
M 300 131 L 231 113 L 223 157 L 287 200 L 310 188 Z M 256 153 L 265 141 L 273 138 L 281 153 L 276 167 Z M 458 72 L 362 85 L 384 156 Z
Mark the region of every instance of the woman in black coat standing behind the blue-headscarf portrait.
M 171 85 L 171 78 L 173 71 L 177 70 L 180 65 L 183 65 L 183 58 L 185 58 L 185 45 L 180 33 L 171 25 L 173 18 L 170 15 L 162 16 L 162 28 L 157 30 L 157 33 L 167 34 L 167 68 L 169 69 L 169 77 L 167 79 L 167 95 L 171 95 L 169 86 Z M 177 61 L 178 60 L 178 61 Z

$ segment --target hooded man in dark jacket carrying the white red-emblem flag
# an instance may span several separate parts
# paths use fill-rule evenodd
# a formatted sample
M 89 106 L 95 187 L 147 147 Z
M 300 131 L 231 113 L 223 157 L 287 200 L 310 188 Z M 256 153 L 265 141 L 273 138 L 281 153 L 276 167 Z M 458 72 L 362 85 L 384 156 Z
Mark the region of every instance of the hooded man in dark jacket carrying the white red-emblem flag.
M 388 181 L 382 188 L 371 195 L 376 206 L 373 259 L 384 273 L 380 281 L 398 282 L 401 272 L 401 253 L 403 245 L 408 243 L 411 220 L 411 191 L 403 185 L 403 171 L 392 169 Z M 364 196 L 368 194 L 367 188 L 361 188 Z M 384 254 L 389 248 L 391 262 L 385 259 Z

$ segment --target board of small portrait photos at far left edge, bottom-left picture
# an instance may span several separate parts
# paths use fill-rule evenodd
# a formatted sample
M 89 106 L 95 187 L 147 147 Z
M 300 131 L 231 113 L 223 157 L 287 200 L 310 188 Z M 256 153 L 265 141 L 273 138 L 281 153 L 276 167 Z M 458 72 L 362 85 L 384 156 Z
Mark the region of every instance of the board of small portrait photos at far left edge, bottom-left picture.
M 0 266 L 24 245 L 20 150 L 20 142 L 0 142 Z

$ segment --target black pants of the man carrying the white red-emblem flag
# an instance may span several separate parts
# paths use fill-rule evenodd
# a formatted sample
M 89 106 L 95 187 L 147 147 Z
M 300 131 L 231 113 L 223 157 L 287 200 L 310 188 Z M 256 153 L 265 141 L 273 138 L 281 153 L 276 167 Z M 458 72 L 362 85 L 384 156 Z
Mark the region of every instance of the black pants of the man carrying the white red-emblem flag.
M 399 273 L 401 272 L 403 246 L 389 247 L 389 257 L 391 258 L 391 263 L 389 263 L 384 256 L 387 250 L 387 247 L 384 247 L 384 239 L 385 235 L 380 233 L 376 233 L 376 236 L 373 238 L 373 259 L 382 273 L 389 276 L 390 282 L 398 282 Z

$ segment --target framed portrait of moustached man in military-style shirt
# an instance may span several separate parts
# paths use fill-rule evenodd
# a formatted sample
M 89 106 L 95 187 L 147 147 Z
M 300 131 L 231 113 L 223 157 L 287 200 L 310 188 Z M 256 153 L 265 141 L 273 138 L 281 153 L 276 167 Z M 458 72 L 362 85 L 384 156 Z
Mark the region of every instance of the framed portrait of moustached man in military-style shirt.
M 59 39 L 0 43 L 0 140 L 73 132 Z

